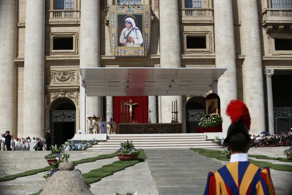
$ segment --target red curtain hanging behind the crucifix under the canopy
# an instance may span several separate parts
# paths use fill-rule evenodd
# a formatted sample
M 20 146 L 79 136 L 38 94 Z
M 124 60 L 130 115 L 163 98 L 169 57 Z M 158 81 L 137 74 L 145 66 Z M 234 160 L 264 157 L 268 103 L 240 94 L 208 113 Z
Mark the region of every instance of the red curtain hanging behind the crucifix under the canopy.
M 132 99 L 132 103 L 138 103 L 138 105 L 132 106 L 133 108 L 132 120 L 138 121 L 140 123 L 148 123 L 148 113 L 147 113 L 148 112 L 148 96 L 113 97 L 113 120 L 117 123 L 117 125 L 123 122 L 121 121 L 121 101 L 123 102 L 123 105 L 124 105 L 124 101 L 125 102 L 128 101 L 129 103 L 130 99 Z M 123 112 L 124 112 L 124 108 L 123 108 Z M 123 116 L 123 120 L 124 120 L 124 116 Z M 130 121 L 129 106 L 128 106 L 128 121 Z

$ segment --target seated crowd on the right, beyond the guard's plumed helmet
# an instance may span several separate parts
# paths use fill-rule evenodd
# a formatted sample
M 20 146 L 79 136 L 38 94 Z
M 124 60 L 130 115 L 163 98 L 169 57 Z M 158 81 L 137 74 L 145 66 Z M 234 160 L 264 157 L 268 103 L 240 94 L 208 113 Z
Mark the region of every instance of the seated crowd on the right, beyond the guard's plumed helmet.
M 273 146 L 292 146 L 292 133 L 288 134 L 282 132 L 280 135 L 250 135 L 253 143 L 251 147 L 273 147 Z

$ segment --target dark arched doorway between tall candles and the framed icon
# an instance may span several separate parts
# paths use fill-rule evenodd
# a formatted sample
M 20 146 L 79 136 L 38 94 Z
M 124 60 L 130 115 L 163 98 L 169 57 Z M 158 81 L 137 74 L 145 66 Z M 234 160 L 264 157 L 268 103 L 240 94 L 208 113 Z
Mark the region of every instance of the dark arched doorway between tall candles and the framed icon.
M 205 98 L 195 96 L 189 98 L 185 105 L 186 133 L 197 133 L 201 116 L 205 114 Z

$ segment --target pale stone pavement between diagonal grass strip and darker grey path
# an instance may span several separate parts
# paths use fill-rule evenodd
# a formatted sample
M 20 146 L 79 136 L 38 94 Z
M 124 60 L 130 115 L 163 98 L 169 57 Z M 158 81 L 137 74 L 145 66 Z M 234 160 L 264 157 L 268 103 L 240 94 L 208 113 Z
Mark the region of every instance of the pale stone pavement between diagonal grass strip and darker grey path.
M 147 162 L 140 162 L 112 176 L 102 178 L 92 183 L 90 190 L 94 195 L 134 194 L 136 191 L 138 195 L 159 195 Z

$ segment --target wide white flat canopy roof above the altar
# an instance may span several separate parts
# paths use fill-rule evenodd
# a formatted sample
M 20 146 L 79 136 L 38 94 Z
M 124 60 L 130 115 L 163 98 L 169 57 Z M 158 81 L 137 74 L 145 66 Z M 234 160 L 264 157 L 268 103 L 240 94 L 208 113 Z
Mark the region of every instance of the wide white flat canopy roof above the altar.
M 79 68 L 87 96 L 204 95 L 227 68 Z

